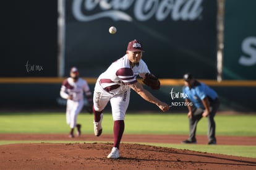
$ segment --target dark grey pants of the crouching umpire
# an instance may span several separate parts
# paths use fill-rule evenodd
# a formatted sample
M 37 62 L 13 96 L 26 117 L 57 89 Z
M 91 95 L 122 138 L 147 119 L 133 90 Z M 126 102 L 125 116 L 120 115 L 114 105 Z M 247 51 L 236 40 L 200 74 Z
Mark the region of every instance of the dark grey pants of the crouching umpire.
M 215 114 L 220 106 L 220 100 L 216 98 L 216 100 L 210 101 L 210 114 L 207 116 L 208 119 L 208 141 L 215 141 L 215 121 L 214 117 Z M 195 138 L 195 133 L 197 131 L 197 124 L 202 119 L 203 109 L 202 108 L 193 108 L 192 109 L 192 118 L 189 119 L 189 140 L 191 141 L 197 141 Z

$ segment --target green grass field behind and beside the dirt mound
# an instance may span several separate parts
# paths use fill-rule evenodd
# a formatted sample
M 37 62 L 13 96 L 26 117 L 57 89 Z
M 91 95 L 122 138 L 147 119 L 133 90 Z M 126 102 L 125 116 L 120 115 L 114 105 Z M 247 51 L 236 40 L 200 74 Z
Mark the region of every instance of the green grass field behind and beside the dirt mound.
M 83 133 L 92 134 L 93 114 L 80 113 L 78 119 L 78 122 L 83 124 Z M 215 121 L 217 135 L 256 136 L 256 115 L 254 114 L 217 114 Z M 66 124 L 64 113 L 1 113 L 0 127 L 0 134 L 66 134 L 69 132 L 69 126 Z M 105 134 L 112 134 L 113 119 L 111 114 L 104 114 L 103 127 Z M 188 129 L 186 114 L 127 113 L 126 115 L 125 134 L 187 135 Z M 207 119 L 202 119 L 199 122 L 197 134 L 207 134 Z M 35 141 L 29 142 L 33 143 Z M 7 143 L 20 142 L 0 141 L 1 145 Z M 214 147 L 209 147 L 208 145 L 145 144 L 256 158 L 255 146 L 215 145 Z

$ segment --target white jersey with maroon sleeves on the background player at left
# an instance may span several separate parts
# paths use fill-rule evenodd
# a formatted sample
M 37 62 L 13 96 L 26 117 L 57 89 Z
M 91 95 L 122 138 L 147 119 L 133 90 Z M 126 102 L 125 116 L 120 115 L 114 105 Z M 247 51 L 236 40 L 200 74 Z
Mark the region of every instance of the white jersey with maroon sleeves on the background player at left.
M 71 77 L 64 80 L 61 87 L 61 97 L 67 99 L 69 95 L 72 95 L 74 101 L 83 100 L 83 91 L 86 96 L 92 95 L 88 83 L 79 78 L 77 82 L 74 82 Z

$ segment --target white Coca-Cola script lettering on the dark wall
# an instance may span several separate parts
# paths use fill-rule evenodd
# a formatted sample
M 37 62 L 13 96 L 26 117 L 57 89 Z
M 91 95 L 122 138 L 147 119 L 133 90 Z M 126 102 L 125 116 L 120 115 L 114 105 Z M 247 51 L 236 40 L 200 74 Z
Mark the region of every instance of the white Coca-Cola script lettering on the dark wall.
M 196 20 L 200 19 L 203 0 L 74 0 L 72 13 L 75 19 L 81 22 L 108 17 L 115 21 L 132 20 L 147 21 L 155 17 L 158 21 L 169 20 Z M 102 12 L 93 14 L 99 7 Z M 133 7 L 133 17 L 127 14 L 127 9 Z M 92 14 L 84 14 L 88 11 Z

